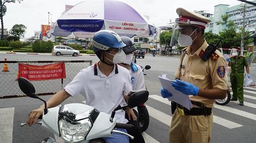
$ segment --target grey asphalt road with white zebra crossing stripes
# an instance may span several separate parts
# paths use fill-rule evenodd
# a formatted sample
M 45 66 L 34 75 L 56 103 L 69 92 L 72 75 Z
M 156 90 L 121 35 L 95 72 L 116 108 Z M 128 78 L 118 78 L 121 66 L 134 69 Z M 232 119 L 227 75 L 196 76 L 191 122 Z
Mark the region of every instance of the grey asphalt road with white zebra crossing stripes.
M 97 62 L 96 56 L 83 55 L 73 56 L 52 56 L 49 54 L 27 55 L 0 53 L 0 59 L 8 60 L 92 60 Z M 146 142 L 168 142 L 168 129 L 172 118 L 170 105 L 163 100 L 160 95 L 160 83 L 158 76 L 166 73 L 167 77 L 174 79 L 174 72 L 179 63 L 177 57 L 167 57 L 150 54 L 145 59 L 137 59 L 138 64 L 151 65 L 151 69 L 145 71 L 150 77 L 145 77 L 145 84 L 150 92 L 150 98 L 146 102 L 150 112 L 150 126 L 143 134 Z M 4 90 L 4 89 L 2 89 Z M 41 96 L 49 99 L 51 95 Z M 244 89 L 245 105 L 239 106 L 238 102 L 230 102 L 226 106 L 215 105 L 214 125 L 212 128 L 211 142 L 255 142 L 256 140 L 256 88 Z M 84 98 L 77 96 L 69 98 L 66 103 L 82 103 Z M 42 102 L 28 97 L 0 99 L 0 142 L 40 142 L 46 136 L 58 137 L 40 128 L 39 125 L 33 127 L 19 127 L 20 123 L 26 122 L 31 109 L 37 108 Z

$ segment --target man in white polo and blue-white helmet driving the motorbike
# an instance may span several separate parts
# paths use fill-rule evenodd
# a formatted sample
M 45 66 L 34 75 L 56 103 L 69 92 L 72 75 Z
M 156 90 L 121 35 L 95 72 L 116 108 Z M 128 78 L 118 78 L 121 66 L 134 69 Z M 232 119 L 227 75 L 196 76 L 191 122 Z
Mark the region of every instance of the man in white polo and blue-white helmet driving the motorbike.
M 86 98 L 86 104 L 110 115 L 118 105 L 124 106 L 129 98 L 127 94 L 132 91 L 129 71 L 117 65 L 125 60 L 125 53 L 122 50 L 125 44 L 115 32 L 103 30 L 94 35 L 92 45 L 100 61 L 81 70 L 63 90 L 47 101 L 47 108 L 55 107 L 70 96 L 78 94 Z M 43 112 L 44 105 L 32 110 L 27 125 L 35 124 Z M 117 123 L 128 122 L 123 110 L 116 111 L 115 118 Z M 125 129 L 116 130 L 126 132 Z M 105 142 L 129 142 L 127 136 L 117 133 L 90 142 L 104 142 L 102 139 Z

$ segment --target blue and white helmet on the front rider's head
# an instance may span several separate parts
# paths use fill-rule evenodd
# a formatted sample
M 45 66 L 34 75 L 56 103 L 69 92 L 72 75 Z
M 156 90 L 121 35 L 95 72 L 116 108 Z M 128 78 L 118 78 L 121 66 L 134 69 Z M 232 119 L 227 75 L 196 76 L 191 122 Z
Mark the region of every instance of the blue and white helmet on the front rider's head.
M 126 46 L 118 34 L 110 30 L 101 30 L 93 36 L 92 40 L 93 51 L 101 60 L 102 52 L 117 48 L 120 49 Z

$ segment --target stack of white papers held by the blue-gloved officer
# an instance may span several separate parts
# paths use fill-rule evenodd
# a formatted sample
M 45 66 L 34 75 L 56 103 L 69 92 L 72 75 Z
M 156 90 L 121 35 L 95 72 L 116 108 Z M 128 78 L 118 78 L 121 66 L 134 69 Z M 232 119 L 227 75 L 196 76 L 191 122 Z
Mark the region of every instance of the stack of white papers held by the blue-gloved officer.
M 174 101 L 176 103 L 179 103 L 180 105 L 184 106 L 187 109 L 191 109 L 193 107 L 189 97 L 177 90 L 172 86 L 172 82 L 175 80 L 170 80 L 166 77 L 166 74 L 162 74 L 161 76 L 158 76 L 160 83 L 162 87 L 167 90 L 169 93 L 172 93 L 172 97 L 168 97 L 167 99 L 169 101 Z

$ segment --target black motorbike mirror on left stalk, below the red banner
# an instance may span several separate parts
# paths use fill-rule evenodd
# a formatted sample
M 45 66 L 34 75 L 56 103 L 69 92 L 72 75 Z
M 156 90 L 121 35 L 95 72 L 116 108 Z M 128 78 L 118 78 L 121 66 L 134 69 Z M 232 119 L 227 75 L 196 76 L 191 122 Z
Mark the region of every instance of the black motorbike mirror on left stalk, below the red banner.
M 24 77 L 19 77 L 18 86 L 19 86 L 19 89 L 22 90 L 22 92 L 25 93 L 27 96 L 31 98 L 38 98 L 35 95 L 35 88 L 33 84 L 28 79 Z

